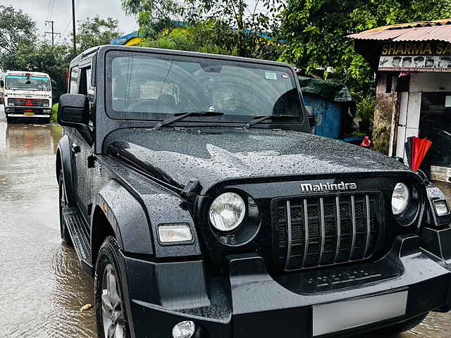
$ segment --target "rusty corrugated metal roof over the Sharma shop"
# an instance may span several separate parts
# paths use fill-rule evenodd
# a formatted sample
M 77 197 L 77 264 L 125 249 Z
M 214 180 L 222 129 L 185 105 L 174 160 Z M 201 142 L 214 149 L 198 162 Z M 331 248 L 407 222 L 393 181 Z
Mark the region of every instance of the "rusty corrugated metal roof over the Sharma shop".
M 403 41 L 438 40 L 451 43 L 451 19 L 404 23 L 348 35 L 352 39 Z

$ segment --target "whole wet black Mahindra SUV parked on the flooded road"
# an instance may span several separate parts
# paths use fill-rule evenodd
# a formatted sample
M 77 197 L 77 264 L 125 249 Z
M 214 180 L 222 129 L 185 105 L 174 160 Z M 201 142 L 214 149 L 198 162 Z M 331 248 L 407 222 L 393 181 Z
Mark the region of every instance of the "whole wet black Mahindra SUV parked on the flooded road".
M 99 337 L 347 337 L 450 309 L 445 197 L 310 134 L 289 65 L 100 46 L 69 93 L 61 237 Z

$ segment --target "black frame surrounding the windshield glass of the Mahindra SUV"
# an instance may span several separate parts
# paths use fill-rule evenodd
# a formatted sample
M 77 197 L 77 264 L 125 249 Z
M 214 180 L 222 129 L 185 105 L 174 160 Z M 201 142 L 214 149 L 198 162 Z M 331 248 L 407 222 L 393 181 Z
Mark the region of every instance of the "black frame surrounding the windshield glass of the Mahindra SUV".
M 117 51 L 117 50 L 109 50 L 105 54 L 105 87 L 104 87 L 104 104 L 106 108 L 106 115 L 113 120 L 138 120 L 138 121 L 149 121 L 149 122 L 161 122 L 162 120 L 166 120 L 167 118 L 171 118 L 173 114 L 171 113 L 140 113 L 140 112 L 125 112 L 125 111 L 115 111 L 113 109 L 113 99 L 112 99 L 112 76 L 113 76 L 113 59 L 117 57 L 130 56 L 130 54 L 137 55 L 138 57 L 146 57 L 146 56 L 162 56 L 162 58 L 175 58 L 175 61 L 183 61 L 183 59 L 187 58 L 205 58 L 205 59 L 213 59 L 218 61 L 225 62 L 237 62 L 237 63 L 248 63 L 250 66 L 254 65 L 258 68 L 267 68 L 268 70 L 274 68 L 285 68 L 287 73 L 290 73 L 290 81 L 292 81 L 292 89 L 297 89 L 297 99 L 299 102 L 299 116 L 294 118 L 293 120 L 287 121 L 273 121 L 268 120 L 260 125 L 302 125 L 306 119 L 306 109 L 304 106 L 304 100 L 302 98 L 302 93 L 299 87 L 299 82 L 297 82 L 297 75 L 295 73 L 294 68 L 290 65 L 286 65 L 284 63 L 276 63 L 274 61 L 262 61 L 250 58 L 238 58 L 234 56 L 222 56 L 222 55 L 211 55 L 211 54 L 198 54 L 194 52 L 185 52 L 185 51 L 164 51 L 164 50 L 149 50 L 149 51 Z M 189 118 L 183 119 L 177 123 L 236 123 L 237 125 L 242 125 L 243 123 L 248 123 L 249 120 L 254 118 L 253 115 L 234 115 L 225 113 L 221 116 L 214 117 L 194 117 L 190 116 Z M 177 124 L 175 123 L 175 124 Z M 175 125 L 174 124 L 174 125 Z

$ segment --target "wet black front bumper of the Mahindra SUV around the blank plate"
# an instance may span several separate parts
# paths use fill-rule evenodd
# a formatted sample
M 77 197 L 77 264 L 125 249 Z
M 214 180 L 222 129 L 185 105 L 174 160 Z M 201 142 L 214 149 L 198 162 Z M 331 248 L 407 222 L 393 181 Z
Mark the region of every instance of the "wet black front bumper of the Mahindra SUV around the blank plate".
M 326 289 L 306 289 L 300 281 L 315 273 L 271 277 L 264 260 L 252 254 L 229 257 L 228 276 L 210 279 L 202 261 L 152 263 L 123 256 L 130 329 L 134 337 L 171 337 L 176 323 L 193 320 L 200 327 L 199 338 L 348 337 L 450 309 L 451 265 L 447 268 L 445 261 L 420 249 L 419 237 L 398 237 L 381 262 L 391 267 L 389 275 L 376 280 L 360 277 L 337 288 L 333 278 L 349 268 L 326 268 L 316 271 L 321 282 L 316 286 Z M 318 306 L 370 296 L 390 299 L 390 294 L 407 296 L 403 313 L 395 318 L 336 331 L 330 325 L 323 330 L 321 323 L 313 324 L 313 309 Z M 362 311 L 371 306 L 368 299 Z

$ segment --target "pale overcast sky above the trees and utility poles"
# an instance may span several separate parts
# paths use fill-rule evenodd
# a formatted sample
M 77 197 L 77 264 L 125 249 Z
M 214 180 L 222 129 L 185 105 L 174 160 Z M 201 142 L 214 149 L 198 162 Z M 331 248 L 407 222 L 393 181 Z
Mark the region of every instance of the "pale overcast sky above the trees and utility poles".
M 121 8 L 121 0 L 74 0 L 75 20 L 111 17 L 119 21 L 119 31 L 128 34 L 138 29 L 136 19 L 133 16 L 125 16 Z M 259 0 L 246 0 L 249 8 L 254 8 Z M 61 33 L 61 37 L 55 36 L 55 41 L 68 37 L 72 32 L 72 0 L 0 0 L 0 5 L 13 6 L 21 9 L 37 23 L 39 35 L 50 32 L 51 27 L 45 24 L 46 20 L 54 21 L 54 32 Z M 45 35 L 51 41 L 51 35 Z

